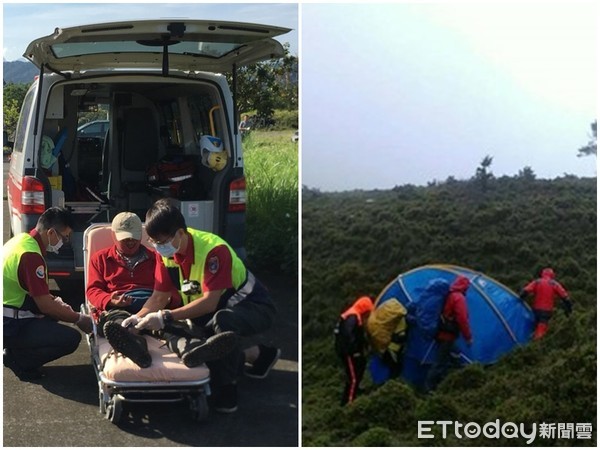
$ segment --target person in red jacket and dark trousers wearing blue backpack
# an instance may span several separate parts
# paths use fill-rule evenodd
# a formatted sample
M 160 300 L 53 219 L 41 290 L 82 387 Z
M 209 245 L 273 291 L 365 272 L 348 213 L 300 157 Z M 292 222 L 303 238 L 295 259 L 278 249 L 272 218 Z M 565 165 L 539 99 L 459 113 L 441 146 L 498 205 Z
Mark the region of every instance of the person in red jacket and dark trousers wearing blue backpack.
M 469 313 L 467 310 L 467 299 L 465 295 L 471 282 L 468 278 L 459 275 L 450 286 L 450 292 L 444 302 L 438 333 L 437 356 L 431 365 L 425 380 L 425 391 L 430 392 L 447 375 L 452 366 L 452 352 L 455 350 L 454 343 L 462 334 L 467 345 L 473 343 L 471 327 L 469 326 Z

